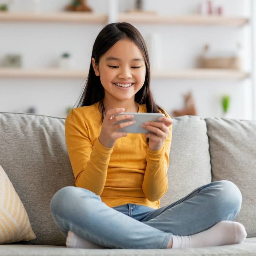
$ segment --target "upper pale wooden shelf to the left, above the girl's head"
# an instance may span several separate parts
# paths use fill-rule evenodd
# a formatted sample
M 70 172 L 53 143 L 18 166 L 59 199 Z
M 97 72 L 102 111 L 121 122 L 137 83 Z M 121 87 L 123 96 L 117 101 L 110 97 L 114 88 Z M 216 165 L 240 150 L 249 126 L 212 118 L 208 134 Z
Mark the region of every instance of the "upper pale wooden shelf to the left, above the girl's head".
M 106 23 L 108 15 L 95 12 L 56 12 L 56 13 L 1 13 L 0 22 L 88 22 Z

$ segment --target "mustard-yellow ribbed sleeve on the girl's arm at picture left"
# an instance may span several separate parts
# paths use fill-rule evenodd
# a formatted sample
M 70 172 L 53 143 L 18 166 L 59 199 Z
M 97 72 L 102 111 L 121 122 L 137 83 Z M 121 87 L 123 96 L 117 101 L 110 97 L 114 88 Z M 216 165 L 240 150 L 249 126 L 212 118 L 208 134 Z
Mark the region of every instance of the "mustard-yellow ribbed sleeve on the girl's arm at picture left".
M 113 147 L 103 146 L 99 139 L 93 145 L 86 121 L 75 109 L 66 117 L 65 139 L 76 187 L 101 195 Z

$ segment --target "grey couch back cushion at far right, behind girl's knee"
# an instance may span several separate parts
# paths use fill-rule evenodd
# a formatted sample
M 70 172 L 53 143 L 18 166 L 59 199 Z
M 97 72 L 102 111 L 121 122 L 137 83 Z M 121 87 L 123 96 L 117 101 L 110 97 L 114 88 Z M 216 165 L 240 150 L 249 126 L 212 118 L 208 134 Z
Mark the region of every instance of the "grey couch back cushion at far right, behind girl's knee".
M 206 118 L 212 181 L 230 180 L 242 193 L 236 221 L 256 236 L 256 121 Z

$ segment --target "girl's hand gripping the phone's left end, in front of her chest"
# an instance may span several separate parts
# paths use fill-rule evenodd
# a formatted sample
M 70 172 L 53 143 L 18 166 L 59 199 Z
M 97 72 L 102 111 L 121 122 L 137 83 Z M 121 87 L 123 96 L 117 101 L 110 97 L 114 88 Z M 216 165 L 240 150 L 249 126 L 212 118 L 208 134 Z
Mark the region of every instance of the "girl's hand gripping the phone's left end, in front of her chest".
M 129 114 L 123 114 L 120 116 L 114 116 L 117 113 L 123 113 L 124 108 L 110 109 L 106 112 L 106 115 L 102 122 L 101 132 L 99 134 L 99 141 L 105 147 L 113 147 L 115 140 L 120 137 L 125 137 L 127 135 L 126 132 L 118 132 L 119 129 L 124 128 L 126 126 L 134 124 L 133 116 Z M 117 124 L 117 121 L 127 120 L 128 122 Z M 131 119 L 131 120 L 130 120 Z

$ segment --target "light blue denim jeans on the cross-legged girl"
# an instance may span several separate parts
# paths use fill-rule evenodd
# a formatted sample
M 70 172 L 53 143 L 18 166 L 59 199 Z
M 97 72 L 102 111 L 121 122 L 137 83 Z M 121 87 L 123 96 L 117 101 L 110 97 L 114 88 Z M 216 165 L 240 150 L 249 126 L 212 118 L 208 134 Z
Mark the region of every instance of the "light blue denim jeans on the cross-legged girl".
M 54 194 L 50 212 L 65 237 L 71 230 L 106 248 L 165 249 L 173 234 L 191 235 L 219 221 L 233 221 L 241 203 L 240 190 L 226 180 L 199 187 L 159 209 L 132 203 L 112 208 L 88 189 L 68 186 Z

